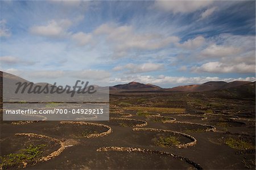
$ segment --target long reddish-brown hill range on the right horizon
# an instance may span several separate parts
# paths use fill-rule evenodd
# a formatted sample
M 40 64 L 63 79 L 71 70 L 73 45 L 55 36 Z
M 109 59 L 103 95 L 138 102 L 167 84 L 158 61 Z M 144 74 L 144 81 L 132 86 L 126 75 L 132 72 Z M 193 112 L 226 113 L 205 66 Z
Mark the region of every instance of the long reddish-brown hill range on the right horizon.
M 175 88 L 171 88 L 171 91 L 174 92 L 206 92 L 211 90 L 220 90 L 220 89 L 228 89 L 236 86 L 241 86 L 245 84 L 250 84 L 250 81 L 209 81 L 205 82 L 201 85 L 185 85 L 185 86 L 177 86 Z

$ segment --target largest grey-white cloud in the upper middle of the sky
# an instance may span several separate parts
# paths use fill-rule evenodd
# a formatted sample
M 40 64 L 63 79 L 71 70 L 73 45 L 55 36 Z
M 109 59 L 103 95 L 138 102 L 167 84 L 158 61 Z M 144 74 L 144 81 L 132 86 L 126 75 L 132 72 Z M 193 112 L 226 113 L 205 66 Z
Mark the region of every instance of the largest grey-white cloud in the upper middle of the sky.
M 130 50 L 154 50 L 179 42 L 177 36 L 164 36 L 154 33 L 138 33 L 131 26 L 102 24 L 94 35 L 105 35 L 106 42 L 112 45 L 115 57 L 122 57 Z

